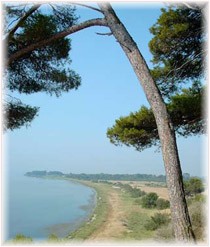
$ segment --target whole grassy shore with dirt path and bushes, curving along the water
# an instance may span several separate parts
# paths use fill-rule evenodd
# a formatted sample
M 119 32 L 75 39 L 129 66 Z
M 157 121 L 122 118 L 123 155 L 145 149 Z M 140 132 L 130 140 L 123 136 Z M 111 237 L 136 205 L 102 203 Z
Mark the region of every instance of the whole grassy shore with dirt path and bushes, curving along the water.
M 94 188 L 97 192 L 97 203 L 89 218 L 65 238 L 59 238 L 52 233 L 46 240 L 47 243 L 167 242 L 175 239 L 169 201 L 161 198 L 156 191 L 160 188 L 156 186 L 159 182 L 153 182 L 153 187 L 151 187 L 151 185 L 148 186 L 148 182 L 88 181 L 60 176 L 46 176 L 45 178 L 82 183 Z M 154 192 L 146 193 L 144 190 L 147 188 L 152 188 Z M 161 189 L 165 191 L 165 198 L 167 198 L 167 189 L 165 187 Z M 187 196 L 187 204 L 196 239 L 205 241 L 205 196 L 199 191 L 194 191 L 193 194 Z M 21 239 L 24 242 L 28 238 L 23 235 L 21 238 L 16 236 L 13 242 L 20 243 Z

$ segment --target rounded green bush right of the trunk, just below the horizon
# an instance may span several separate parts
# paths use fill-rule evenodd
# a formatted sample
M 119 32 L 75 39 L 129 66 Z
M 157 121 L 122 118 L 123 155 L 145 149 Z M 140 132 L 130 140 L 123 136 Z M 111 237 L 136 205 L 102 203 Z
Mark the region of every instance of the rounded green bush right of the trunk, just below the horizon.
M 190 180 L 184 182 L 184 189 L 187 196 L 192 196 L 203 192 L 204 185 L 201 179 L 191 178 Z

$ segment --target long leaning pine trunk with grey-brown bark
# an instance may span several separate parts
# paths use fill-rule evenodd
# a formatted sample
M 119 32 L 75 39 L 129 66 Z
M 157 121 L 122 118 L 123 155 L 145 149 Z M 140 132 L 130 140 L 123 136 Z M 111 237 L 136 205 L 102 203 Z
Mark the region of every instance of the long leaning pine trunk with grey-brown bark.
M 178 156 L 175 132 L 160 91 L 136 43 L 116 16 L 109 3 L 98 3 L 108 27 L 127 55 L 154 113 L 170 199 L 171 217 L 177 241 L 194 242 L 189 212 L 185 200 L 182 171 Z

